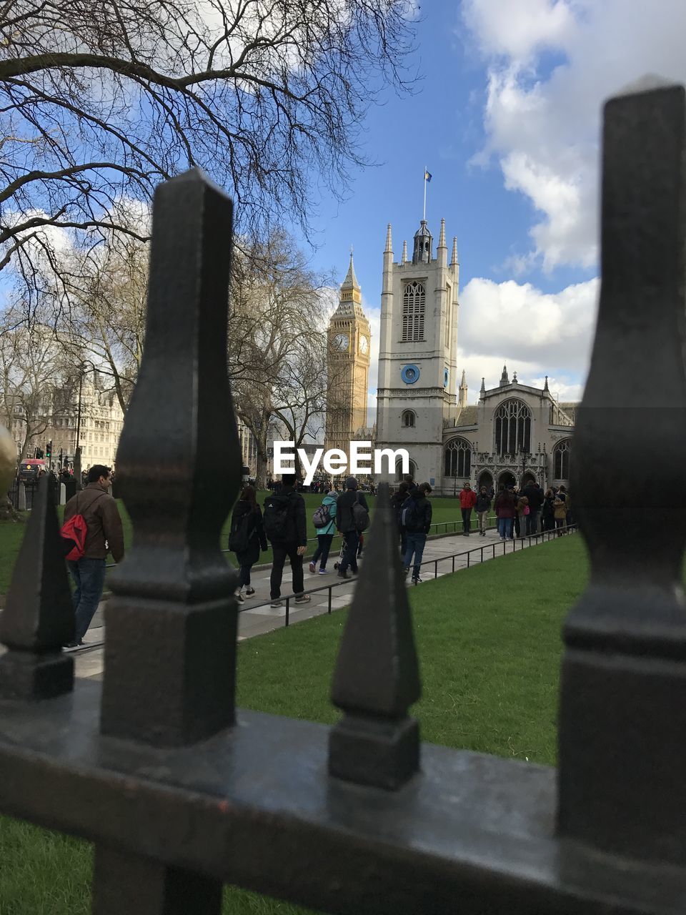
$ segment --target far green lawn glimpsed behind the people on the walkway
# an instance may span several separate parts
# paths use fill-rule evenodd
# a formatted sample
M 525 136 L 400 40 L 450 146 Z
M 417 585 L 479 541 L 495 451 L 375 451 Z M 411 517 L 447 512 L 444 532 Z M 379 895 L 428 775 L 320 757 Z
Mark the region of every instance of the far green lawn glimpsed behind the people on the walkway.
M 267 496 L 267 491 L 263 490 L 258 493 L 258 501 L 263 505 L 264 500 Z M 314 493 L 305 492 L 305 509 L 307 515 L 307 536 L 310 538 L 316 537 L 315 525 L 312 523 L 312 515 L 315 512 L 316 507 L 321 503 L 323 496 L 315 495 Z M 370 515 L 373 517 L 374 508 L 376 499 L 373 496 L 367 494 L 367 501 L 370 505 Z M 131 519 L 129 518 L 126 509 L 124 508 L 123 501 L 121 499 L 117 500 L 119 504 L 119 511 L 122 515 L 123 523 L 123 538 L 124 543 L 129 545 L 133 543 L 134 532 L 131 524 Z M 452 497 L 439 497 L 432 499 L 433 505 L 433 520 L 434 523 L 444 525 L 445 522 L 456 522 L 460 521 L 461 530 L 461 515 L 460 515 L 460 502 L 459 499 L 454 499 Z M 59 508 L 59 518 L 61 519 L 62 508 Z M 26 512 L 24 517 L 28 518 L 30 512 Z M 476 529 L 477 526 L 477 516 L 476 514 L 472 516 L 472 527 Z M 15 523 L 15 522 L 0 522 L 0 594 L 6 594 L 7 588 L 9 587 L 10 577 L 12 575 L 12 569 L 15 565 L 16 554 L 19 552 L 19 547 L 21 546 L 22 540 L 24 539 L 24 532 L 26 530 L 25 523 Z M 222 549 L 226 549 L 229 541 L 229 530 L 230 530 L 230 516 L 224 524 L 224 528 L 221 532 L 220 545 Z M 453 528 L 449 527 L 447 529 L 448 533 L 452 531 Z M 434 531 L 437 533 L 444 533 L 445 528 L 443 526 L 439 528 L 434 528 Z M 338 539 L 334 540 L 333 550 L 338 552 L 338 546 L 340 542 Z M 314 547 L 316 543 L 310 544 L 312 547 L 312 552 L 314 552 Z M 308 552 L 308 555 L 311 555 L 311 552 Z M 235 555 L 226 554 L 230 562 L 235 564 Z M 266 553 L 263 553 L 260 557 L 260 562 L 262 563 L 271 563 L 272 562 L 272 549 L 268 549 Z M 2 915 L 2 913 L 0 913 Z

